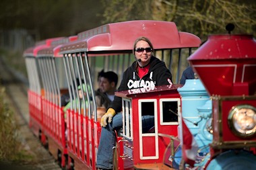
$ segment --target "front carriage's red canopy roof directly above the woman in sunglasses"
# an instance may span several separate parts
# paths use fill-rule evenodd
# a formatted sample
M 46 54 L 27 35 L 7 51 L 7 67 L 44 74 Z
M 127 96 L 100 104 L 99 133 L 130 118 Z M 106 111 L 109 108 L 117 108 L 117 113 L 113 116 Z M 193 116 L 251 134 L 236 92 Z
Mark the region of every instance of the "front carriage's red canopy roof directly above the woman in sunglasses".
M 61 53 L 133 50 L 140 36 L 150 39 L 154 49 L 198 47 L 200 38 L 179 32 L 174 22 L 137 20 L 106 24 L 81 32 L 78 40 L 61 46 Z

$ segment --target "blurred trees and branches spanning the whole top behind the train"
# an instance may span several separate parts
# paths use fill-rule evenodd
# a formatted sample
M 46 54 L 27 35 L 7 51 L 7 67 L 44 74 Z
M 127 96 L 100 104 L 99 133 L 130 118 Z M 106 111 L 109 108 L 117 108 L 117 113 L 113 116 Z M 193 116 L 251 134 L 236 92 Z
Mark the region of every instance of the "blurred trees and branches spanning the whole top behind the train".
M 0 29 L 24 28 L 40 34 L 40 40 L 73 36 L 101 24 L 136 19 L 175 22 L 180 31 L 202 40 L 209 34 L 256 36 L 256 1 L 253 0 L 2 0 Z

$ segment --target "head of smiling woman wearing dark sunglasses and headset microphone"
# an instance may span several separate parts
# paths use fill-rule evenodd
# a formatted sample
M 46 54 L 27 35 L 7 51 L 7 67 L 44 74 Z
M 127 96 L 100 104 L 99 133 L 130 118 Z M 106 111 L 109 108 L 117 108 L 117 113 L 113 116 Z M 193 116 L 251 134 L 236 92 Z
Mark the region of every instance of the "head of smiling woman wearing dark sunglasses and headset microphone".
M 142 65 L 147 65 L 154 52 L 154 48 L 150 40 L 146 37 L 139 37 L 133 44 L 133 54 L 136 60 L 141 62 Z

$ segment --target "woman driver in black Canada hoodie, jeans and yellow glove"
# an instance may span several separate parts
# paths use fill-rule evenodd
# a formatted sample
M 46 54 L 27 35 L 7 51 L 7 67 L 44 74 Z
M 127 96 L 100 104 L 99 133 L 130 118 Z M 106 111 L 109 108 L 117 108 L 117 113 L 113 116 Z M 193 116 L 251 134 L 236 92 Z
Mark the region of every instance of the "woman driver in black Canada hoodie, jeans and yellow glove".
M 118 91 L 135 89 L 139 87 L 155 87 L 158 85 L 171 85 L 172 75 L 164 62 L 153 56 L 154 48 L 148 38 L 137 38 L 133 46 L 136 61 L 123 73 L 123 79 Z M 122 98 L 115 96 L 110 103 L 106 114 L 101 119 L 101 136 L 98 147 L 98 169 L 113 169 L 113 146 L 115 146 L 115 130 L 123 126 Z M 154 126 L 154 116 L 143 116 L 143 128 L 148 130 Z

